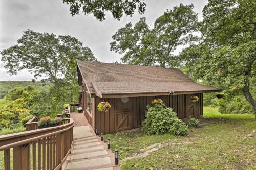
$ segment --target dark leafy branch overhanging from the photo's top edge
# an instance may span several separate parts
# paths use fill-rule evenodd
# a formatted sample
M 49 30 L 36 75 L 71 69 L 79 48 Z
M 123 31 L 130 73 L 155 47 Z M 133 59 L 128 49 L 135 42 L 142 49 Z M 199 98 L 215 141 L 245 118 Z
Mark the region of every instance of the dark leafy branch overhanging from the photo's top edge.
M 70 6 L 72 16 L 78 15 L 82 9 L 84 15 L 93 14 L 100 21 L 105 19 L 105 12 L 111 12 L 114 19 L 120 20 L 123 14 L 132 16 L 136 8 L 142 14 L 146 7 L 146 4 L 140 0 L 63 0 L 63 3 Z

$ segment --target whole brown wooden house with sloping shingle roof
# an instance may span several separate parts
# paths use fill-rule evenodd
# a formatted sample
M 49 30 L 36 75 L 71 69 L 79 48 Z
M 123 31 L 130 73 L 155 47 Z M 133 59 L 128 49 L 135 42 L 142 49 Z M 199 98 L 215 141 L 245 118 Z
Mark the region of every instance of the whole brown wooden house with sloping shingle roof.
M 146 105 L 160 98 L 179 118 L 203 114 L 203 93 L 221 91 L 200 85 L 179 69 L 77 61 L 82 108 L 89 124 L 100 133 L 141 127 Z M 199 97 L 191 102 L 191 95 Z M 111 109 L 97 110 L 100 102 Z

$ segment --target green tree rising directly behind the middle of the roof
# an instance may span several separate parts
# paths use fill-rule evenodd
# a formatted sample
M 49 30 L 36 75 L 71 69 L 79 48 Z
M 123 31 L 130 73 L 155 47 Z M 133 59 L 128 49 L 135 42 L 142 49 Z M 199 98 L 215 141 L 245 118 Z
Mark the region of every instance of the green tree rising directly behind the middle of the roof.
M 110 43 L 111 51 L 124 54 L 122 62 L 134 65 L 175 67 L 179 59 L 172 52 L 177 46 L 197 40 L 197 13 L 193 4 L 175 6 L 156 19 L 154 28 L 141 18 L 133 27 L 127 23 L 120 28 Z

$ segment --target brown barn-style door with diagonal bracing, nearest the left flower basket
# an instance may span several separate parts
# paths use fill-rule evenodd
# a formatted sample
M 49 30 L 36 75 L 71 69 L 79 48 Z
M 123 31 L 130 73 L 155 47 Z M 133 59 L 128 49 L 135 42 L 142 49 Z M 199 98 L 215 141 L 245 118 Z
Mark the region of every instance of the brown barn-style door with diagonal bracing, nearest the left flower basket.
M 114 129 L 115 131 L 126 130 L 132 128 L 131 117 L 131 99 L 121 100 L 115 98 L 115 115 L 114 115 Z

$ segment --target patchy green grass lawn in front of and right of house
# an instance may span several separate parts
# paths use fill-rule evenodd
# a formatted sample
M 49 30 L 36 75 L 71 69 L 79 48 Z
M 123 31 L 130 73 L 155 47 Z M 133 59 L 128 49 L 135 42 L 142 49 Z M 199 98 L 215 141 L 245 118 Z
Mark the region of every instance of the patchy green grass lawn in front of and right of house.
M 204 107 L 200 122 L 201 127 L 187 136 L 148 136 L 136 129 L 107 137 L 111 149 L 119 150 L 120 160 L 162 143 L 146 157 L 122 162 L 122 169 L 256 169 L 254 115 L 220 114 L 216 108 Z

